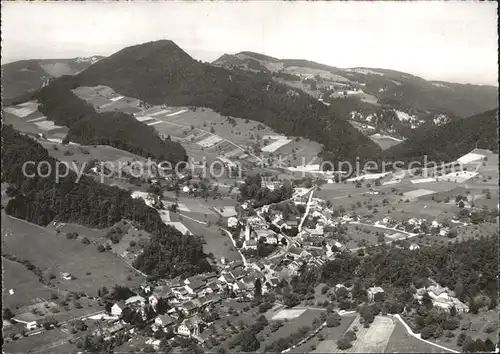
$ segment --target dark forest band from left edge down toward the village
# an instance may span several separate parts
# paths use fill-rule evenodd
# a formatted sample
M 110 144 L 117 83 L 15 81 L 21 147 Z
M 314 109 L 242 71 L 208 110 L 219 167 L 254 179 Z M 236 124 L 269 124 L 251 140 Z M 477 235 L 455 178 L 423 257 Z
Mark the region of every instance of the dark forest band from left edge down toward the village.
M 88 227 L 105 228 L 128 219 L 152 234 L 134 266 L 147 274 L 159 277 L 189 276 L 207 271 L 209 264 L 203 253 L 202 239 L 183 236 L 176 229 L 165 225 L 157 211 L 133 199 L 118 187 L 110 187 L 70 171 L 59 183 L 55 180 L 56 160 L 40 144 L 16 132 L 11 126 L 2 130 L 2 182 L 11 185 L 11 199 L 5 207 L 8 215 L 38 224 L 48 225 L 53 220 L 75 222 Z M 26 172 L 36 172 L 36 165 L 47 161 L 41 168 L 41 177 L 27 177 Z M 49 167 L 52 173 L 49 173 Z M 172 266 L 174 265 L 174 266 Z

